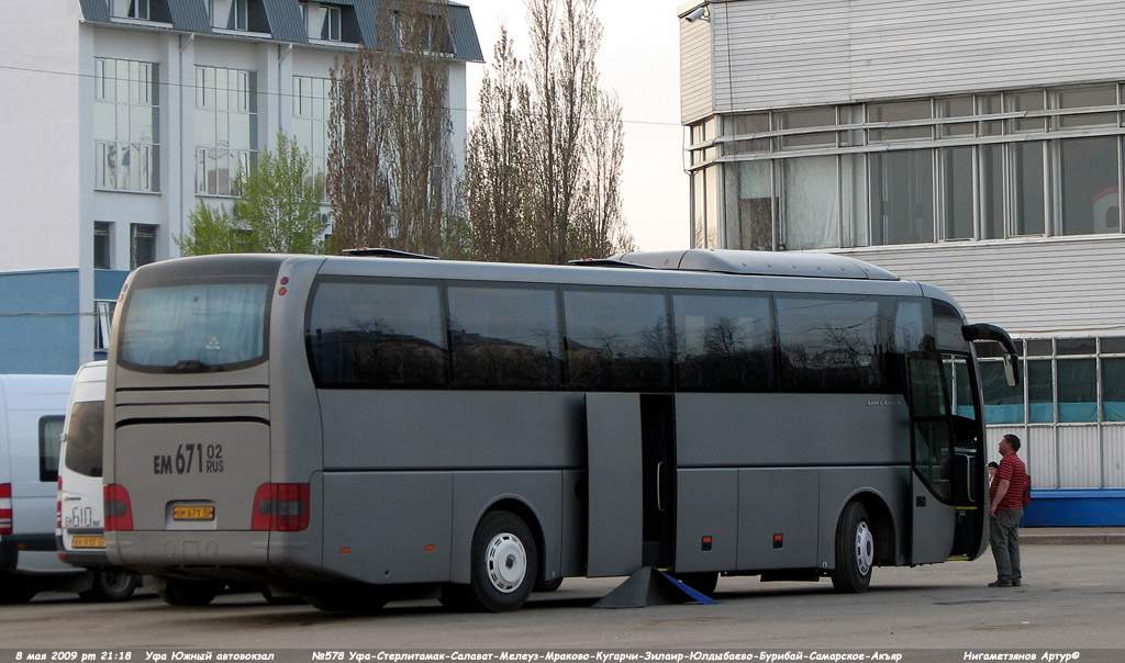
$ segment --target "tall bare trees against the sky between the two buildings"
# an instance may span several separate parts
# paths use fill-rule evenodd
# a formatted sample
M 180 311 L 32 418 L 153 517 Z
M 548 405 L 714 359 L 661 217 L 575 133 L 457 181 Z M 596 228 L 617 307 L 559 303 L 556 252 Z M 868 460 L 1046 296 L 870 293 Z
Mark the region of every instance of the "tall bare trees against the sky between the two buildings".
M 621 211 L 621 105 L 600 92 L 596 0 L 526 0 L 531 54 L 506 33 L 470 130 L 472 255 L 562 263 L 632 248 Z

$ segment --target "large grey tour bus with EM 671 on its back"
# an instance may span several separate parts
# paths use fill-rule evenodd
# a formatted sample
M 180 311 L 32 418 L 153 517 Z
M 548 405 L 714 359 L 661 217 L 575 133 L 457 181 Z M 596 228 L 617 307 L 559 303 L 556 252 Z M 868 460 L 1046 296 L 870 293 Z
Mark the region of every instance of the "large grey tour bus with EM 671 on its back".
M 937 288 L 834 255 L 368 253 L 126 282 L 106 544 L 166 601 L 500 611 L 645 566 L 861 592 L 984 550 L 973 342 L 1014 346 Z

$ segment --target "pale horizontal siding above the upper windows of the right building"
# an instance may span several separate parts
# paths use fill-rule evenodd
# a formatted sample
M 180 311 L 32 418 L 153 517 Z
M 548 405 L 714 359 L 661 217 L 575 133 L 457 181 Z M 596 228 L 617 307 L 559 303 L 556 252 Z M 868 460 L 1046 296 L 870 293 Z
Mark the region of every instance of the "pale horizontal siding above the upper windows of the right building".
M 717 0 L 711 13 L 719 111 L 1125 76 L 1125 12 L 1102 0 Z

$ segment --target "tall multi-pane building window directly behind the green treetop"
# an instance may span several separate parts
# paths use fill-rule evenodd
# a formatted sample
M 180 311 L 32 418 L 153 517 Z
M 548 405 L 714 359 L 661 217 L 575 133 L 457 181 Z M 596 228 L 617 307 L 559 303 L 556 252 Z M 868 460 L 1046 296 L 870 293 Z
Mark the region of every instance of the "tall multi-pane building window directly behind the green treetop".
M 196 66 L 196 192 L 237 196 L 258 162 L 258 76 Z

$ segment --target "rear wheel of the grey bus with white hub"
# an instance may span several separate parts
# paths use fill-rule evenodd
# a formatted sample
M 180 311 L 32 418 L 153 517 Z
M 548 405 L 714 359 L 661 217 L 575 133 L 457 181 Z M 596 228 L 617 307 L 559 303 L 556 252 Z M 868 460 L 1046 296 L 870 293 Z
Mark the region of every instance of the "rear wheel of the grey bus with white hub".
M 488 612 L 519 610 L 531 596 L 539 551 L 528 525 L 510 511 L 490 511 L 472 535 L 468 600 Z

